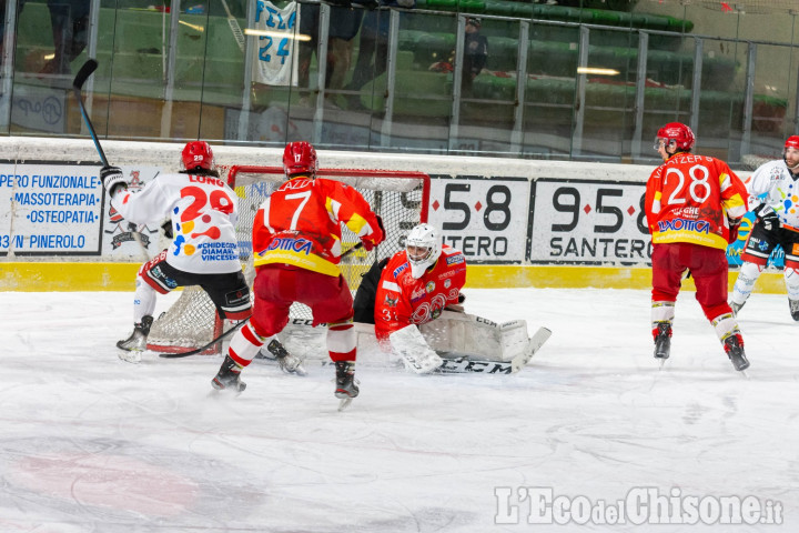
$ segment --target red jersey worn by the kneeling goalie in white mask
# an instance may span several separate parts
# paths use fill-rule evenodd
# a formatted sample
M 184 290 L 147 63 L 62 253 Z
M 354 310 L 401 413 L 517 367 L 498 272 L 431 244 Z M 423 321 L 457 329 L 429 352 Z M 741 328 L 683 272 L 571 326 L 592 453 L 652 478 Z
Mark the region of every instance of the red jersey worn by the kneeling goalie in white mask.
M 388 339 L 409 324 L 424 324 L 441 315 L 444 308 L 458 303 L 466 283 L 466 259 L 461 251 L 442 248 L 438 261 L 419 279 L 411 275 L 405 250 L 388 261 L 375 295 L 375 334 Z

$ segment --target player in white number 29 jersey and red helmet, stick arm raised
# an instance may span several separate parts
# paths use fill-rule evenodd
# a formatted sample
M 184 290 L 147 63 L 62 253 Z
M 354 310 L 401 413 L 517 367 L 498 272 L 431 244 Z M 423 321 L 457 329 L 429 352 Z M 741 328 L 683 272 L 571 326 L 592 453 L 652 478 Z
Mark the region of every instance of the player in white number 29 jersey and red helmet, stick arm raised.
M 250 290 L 239 260 L 235 234 L 236 195 L 219 179 L 208 142 L 186 143 L 183 170 L 161 174 L 131 193 L 118 167 L 100 171 L 111 205 L 136 224 L 168 222 L 172 243 L 139 270 L 133 303 L 133 333 L 117 346 L 120 358 L 141 361 L 152 325 L 156 294 L 178 286 L 200 285 L 221 316 L 244 320 L 251 314 Z

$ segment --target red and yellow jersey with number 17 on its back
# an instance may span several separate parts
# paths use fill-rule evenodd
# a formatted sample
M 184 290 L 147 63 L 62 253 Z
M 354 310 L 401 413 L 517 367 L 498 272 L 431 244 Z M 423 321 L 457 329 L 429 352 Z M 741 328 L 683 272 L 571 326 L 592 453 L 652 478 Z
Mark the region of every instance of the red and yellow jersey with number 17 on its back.
M 254 264 L 292 264 L 338 276 L 342 223 L 362 240 L 383 239 L 377 217 L 358 191 L 340 181 L 293 178 L 255 214 Z

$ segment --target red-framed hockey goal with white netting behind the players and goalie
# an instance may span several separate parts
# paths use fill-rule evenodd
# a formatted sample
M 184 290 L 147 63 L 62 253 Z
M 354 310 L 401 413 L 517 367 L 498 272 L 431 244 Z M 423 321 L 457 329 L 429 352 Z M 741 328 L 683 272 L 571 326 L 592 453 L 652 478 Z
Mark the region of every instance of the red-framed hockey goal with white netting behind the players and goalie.
M 352 169 L 322 169 L 316 175 L 354 187 L 383 219 L 385 241 L 372 251 L 362 248 L 342 258 L 341 271 L 354 295 L 361 284 L 361 276 L 372 264 L 402 250 L 407 232 L 419 222 L 427 221 L 429 177 L 422 172 Z M 282 167 L 232 167 L 227 174 L 227 183 L 239 197 L 239 251 L 251 288 L 255 278 L 252 258 L 253 221 L 261 203 L 284 181 Z M 342 225 L 344 251 L 360 242 L 354 233 Z M 291 309 L 291 318 L 311 320 L 311 310 L 295 303 Z M 175 303 L 153 323 L 148 349 L 162 353 L 199 349 L 233 325 L 233 322 L 220 319 L 205 291 L 199 286 L 186 286 Z M 221 350 L 220 342 L 203 353 L 220 353 Z

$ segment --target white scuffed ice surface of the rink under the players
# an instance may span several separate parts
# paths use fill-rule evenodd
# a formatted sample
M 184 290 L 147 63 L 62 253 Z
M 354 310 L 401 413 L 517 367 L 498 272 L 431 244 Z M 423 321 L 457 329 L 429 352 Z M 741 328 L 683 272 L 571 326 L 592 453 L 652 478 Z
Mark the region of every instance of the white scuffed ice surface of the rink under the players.
M 254 363 L 236 398 L 211 389 L 221 356 L 120 361 L 132 293 L 0 293 L 0 531 L 706 529 L 530 526 L 518 496 L 615 502 L 644 486 L 782 506 L 781 526 L 716 531 L 798 531 L 799 324 L 785 295 L 755 294 L 741 312 L 747 380 L 691 293 L 658 371 L 645 291 L 466 292 L 474 314 L 553 331 L 527 369 L 362 365 L 342 413 L 330 366 L 299 378 Z M 520 525 L 495 523 L 508 504 Z

